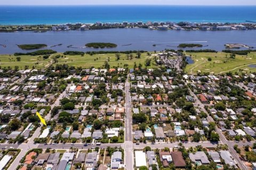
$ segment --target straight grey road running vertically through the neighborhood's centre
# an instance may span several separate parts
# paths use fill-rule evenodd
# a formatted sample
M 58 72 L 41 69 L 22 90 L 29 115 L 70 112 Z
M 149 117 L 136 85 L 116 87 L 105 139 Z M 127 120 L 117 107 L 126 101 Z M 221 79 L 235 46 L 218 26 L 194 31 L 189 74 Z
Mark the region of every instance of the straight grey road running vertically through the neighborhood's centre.
M 130 83 L 127 77 L 125 82 L 125 141 L 124 141 L 124 164 L 125 169 L 133 169 L 133 141 L 132 141 L 132 115 Z

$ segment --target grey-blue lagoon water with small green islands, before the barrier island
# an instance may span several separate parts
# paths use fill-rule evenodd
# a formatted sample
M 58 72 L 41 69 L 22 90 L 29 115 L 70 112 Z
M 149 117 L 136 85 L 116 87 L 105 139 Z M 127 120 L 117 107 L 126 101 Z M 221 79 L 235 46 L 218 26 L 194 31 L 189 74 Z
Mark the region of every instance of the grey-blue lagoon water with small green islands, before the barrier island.
M 202 31 L 202 30 L 149 30 L 143 28 L 123 28 L 106 30 L 76 30 L 76 31 L 18 31 L 0 32 L 0 54 L 13 54 L 15 52 L 33 52 L 35 50 L 22 50 L 17 44 L 46 44 L 46 48 L 57 52 L 67 50 L 99 51 L 99 50 L 147 50 L 160 51 L 164 49 L 178 49 L 181 43 L 196 43 L 207 47 L 182 49 L 214 49 L 221 51 L 227 43 L 240 43 L 256 47 L 253 35 L 256 30 L 229 30 L 229 31 Z M 115 48 L 89 48 L 86 43 L 102 42 L 117 44 Z M 62 44 L 61 46 L 54 46 Z M 129 44 L 129 46 L 124 46 Z M 130 45 L 131 44 L 131 45 Z M 153 46 L 157 44 L 157 46 Z M 68 46 L 73 45 L 73 48 Z M 54 47 L 51 47 L 54 46 Z M 241 48 L 246 49 L 246 48 Z

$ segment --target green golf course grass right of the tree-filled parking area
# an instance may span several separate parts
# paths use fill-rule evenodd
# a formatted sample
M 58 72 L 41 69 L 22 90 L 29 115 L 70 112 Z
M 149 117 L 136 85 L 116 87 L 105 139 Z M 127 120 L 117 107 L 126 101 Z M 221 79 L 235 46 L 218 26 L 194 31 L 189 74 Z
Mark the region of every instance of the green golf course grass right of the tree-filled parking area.
M 188 64 L 185 71 L 188 74 L 214 73 L 221 74 L 226 72 L 250 73 L 256 72 L 256 68 L 251 68 L 249 64 L 256 64 L 256 53 L 246 55 L 236 55 L 230 58 L 227 53 L 186 53 L 194 60 L 194 64 Z M 211 61 L 208 61 L 211 58 Z

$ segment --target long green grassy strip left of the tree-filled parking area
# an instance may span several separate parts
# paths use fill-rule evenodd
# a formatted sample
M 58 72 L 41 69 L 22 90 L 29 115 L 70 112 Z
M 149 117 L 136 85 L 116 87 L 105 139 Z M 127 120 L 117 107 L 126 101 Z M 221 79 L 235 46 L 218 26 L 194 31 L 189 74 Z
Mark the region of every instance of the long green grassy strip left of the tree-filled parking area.
M 19 66 L 19 69 L 24 69 L 27 65 L 29 69 L 32 69 L 35 66 L 36 69 L 43 68 L 49 65 L 51 58 L 61 55 L 63 57 L 58 58 L 58 63 L 55 64 L 68 64 L 75 67 L 81 66 L 83 69 L 89 68 L 94 66 L 95 68 L 102 67 L 105 61 L 108 61 L 110 67 L 118 66 L 123 67 L 124 64 L 128 64 L 129 68 L 133 68 L 134 62 L 139 65 L 142 64 L 142 67 L 145 67 L 145 61 L 147 58 L 151 58 L 151 64 L 148 68 L 157 67 L 155 62 L 153 62 L 153 56 L 148 56 L 147 53 L 141 53 L 140 58 L 135 58 L 136 54 L 133 54 L 132 60 L 127 60 L 125 54 L 121 54 L 120 60 L 116 61 L 115 54 L 95 54 L 95 55 L 88 55 L 85 54 L 84 56 L 81 55 L 63 55 L 62 53 L 57 53 L 51 55 L 46 60 L 43 59 L 43 56 L 20 56 L 20 62 L 17 61 L 16 57 L 13 55 L 0 55 L 0 66 L 14 68 L 15 66 Z M 54 65 L 54 64 L 53 64 Z

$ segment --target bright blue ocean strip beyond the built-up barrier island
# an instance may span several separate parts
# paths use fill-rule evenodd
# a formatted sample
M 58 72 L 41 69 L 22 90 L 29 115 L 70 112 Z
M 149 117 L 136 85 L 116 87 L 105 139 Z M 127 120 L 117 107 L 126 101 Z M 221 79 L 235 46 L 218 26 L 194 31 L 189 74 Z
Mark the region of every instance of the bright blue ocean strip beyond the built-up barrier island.
M 0 24 L 256 21 L 256 6 L 0 6 Z

